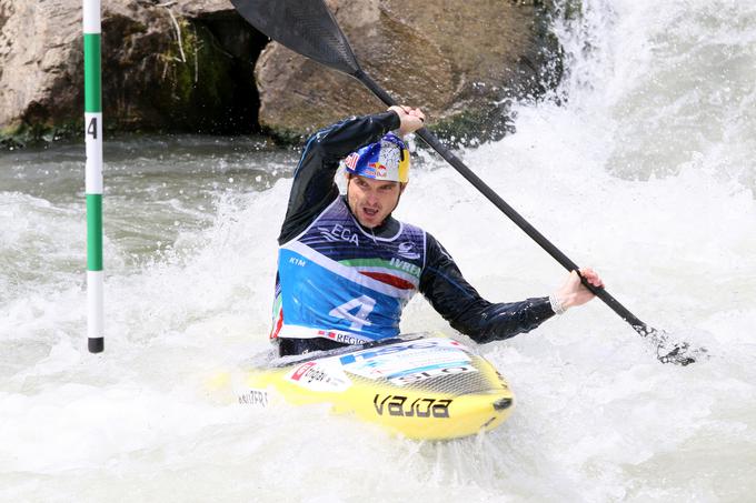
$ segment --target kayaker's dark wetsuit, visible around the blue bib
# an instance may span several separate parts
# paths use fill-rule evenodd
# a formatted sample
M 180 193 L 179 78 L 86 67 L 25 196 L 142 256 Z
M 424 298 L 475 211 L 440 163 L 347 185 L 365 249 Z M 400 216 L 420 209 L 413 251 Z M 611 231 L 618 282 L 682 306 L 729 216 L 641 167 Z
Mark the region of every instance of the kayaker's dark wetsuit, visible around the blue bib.
M 305 232 L 337 198 L 346 198 L 339 194 L 334 182 L 341 159 L 398 128 L 398 115 L 385 112 L 351 118 L 312 135 L 294 175 L 279 244 L 284 245 Z M 381 225 L 365 231 L 378 238 L 391 237 L 399 227 L 400 223 L 389 215 Z M 426 233 L 426 237 L 425 266 L 418 290 L 454 329 L 485 343 L 528 332 L 554 315 L 547 296 L 511 303 L 486 301 L 462 278 L 441 244 L 432 235 Z M 278 278 L 277 293 L 280 293 Z M 280 355 L 344 345 L 324 338 L 277 340 Z

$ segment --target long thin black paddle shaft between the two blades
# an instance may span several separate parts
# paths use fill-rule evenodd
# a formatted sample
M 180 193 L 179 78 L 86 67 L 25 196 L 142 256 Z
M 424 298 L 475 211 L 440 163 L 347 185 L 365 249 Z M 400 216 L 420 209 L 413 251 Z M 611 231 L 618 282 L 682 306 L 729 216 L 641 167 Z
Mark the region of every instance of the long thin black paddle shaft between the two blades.
M 357 80 L 362 82 L 366 88 L 368 88 L 380 101 L 389 107 L 397 105 L 398 103 L 376 82 L 370 76 L 365 73 L 362 70 L 358 70 L 352 73 Z M 431 133 L 426 128 L 417 131 L 417 135 L 422 139 L 431 149 L 439 153 L 454 169 L 456 169 L 459 174 L 465 177 L 465 179 L 470 182 L 478 191 L 484 194 L 490 202 L 494 203 L 496 208 L 501 210 L 509 220 L 511 220 L 518 228 L 523 230 L 530 239 L 533 239 L 540 248 L 543 248 L 549 255 L 551 255 L 557 262 L 561 264 L 567 271 L 577 271 L 580 274 L 579 269 L 575 262 L 569 260 L 557 247 L 555 247 L 544 234 L 538 232 L 527 220 L 523 218 L 514 208 L 511 208 L 507 202 L 501 199 L 494 190 L 488 187 L 477 174 L 472 172 L 457 155 L 455 155 L 448 148 L 446 148 L 434 133 Z M 633 326 L 633 329 L 640 335 L 646 335 L 649 332 L 646 323 L 640 321 L 635 314 L 633 314 L 627 308 L 619 303 L 614 296 L 609 294 L 604 288 L 596 288 L 588 283 L 583 275 L 580 275 L 580 281 L 583 284 L 590 290 L 597 298 L 599 298 L 606 305 L 608 305 L 615 313 L 617 313 L 623 320 Z

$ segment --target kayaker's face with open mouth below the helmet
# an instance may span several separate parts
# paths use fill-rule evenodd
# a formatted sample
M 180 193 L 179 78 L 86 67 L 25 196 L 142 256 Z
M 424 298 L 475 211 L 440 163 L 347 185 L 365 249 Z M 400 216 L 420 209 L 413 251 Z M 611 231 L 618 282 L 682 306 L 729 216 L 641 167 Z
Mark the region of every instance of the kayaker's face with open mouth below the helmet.
M 394 211 L 405 185 L 347 174 L 347 200 L 357 221 L 368 229 L 380 225 Z

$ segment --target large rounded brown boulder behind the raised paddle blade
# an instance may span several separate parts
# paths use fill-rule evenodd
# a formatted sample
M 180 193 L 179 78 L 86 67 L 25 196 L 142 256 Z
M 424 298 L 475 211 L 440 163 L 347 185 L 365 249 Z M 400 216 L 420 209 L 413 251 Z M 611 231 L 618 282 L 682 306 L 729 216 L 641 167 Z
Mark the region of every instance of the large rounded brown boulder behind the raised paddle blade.
M 498 138 L 507 98 L 559 80 L 545 8 L 511 0 L 332 0 L 364 70 L 398 102 L 422 107 L 441 135 Z M 384 108 L 355 79 L 271 43 L 258 60 L 260 123 L 307 134 Z M 440 131 L 439 131 L 440 130 Z

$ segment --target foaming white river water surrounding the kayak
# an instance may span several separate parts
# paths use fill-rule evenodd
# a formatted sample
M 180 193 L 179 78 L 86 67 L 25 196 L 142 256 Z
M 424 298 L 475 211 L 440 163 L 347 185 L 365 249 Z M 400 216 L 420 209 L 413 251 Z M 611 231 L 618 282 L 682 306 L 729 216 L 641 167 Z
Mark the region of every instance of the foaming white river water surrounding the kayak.
M 465 160 L 708 360 L 659 364 L 596 301 L 480 348 L 518 405 L 479 437 L 418 443 L 325 409 L 228 405 L 203 383 L 267 349 L 295 159 L 203 139 L 112 145 L 93 356 L 78 147 L 6 153 L 0 501 L 755 501 L 756 4 L 584 6 L 560 32 L 564 104 L 519 105 L 517 133 Z M 491 300 L 565 275 L 440 164 L 416 172 L 398 217 Z M 402 328 L 451 333 L 422 299 Z

